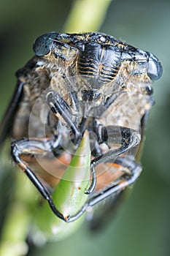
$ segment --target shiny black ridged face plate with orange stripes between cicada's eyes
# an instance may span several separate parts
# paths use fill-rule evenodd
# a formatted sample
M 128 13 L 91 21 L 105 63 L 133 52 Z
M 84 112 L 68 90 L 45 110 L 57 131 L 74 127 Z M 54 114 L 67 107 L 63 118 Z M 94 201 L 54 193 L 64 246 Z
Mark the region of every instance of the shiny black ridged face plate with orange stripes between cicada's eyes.
M 87 43 L 77 57 L 77 73 L 86 76 L 93 89 L 115 80 L 120 68 L 120 53 L 110 45 Z

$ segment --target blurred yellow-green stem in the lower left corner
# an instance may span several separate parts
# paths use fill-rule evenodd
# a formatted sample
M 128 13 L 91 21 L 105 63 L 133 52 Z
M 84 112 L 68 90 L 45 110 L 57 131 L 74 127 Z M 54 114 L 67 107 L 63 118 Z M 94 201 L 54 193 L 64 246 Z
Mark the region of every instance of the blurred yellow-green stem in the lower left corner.
M 4 220 L 0 256 L 23 256 L 28 252 L 26 237 L 35 207 L 35 189 L 23 173 L 16 176 L 15 192 Z

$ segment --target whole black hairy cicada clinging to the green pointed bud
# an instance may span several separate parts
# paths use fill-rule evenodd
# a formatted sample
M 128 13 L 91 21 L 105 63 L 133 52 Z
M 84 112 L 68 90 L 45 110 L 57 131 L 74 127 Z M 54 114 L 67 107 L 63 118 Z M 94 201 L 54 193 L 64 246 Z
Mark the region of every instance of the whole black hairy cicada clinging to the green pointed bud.
M 72 222 L 139 177 L 136 155 L 154 102 L 152 81 L 161 77 L 162 67 L 152 53 L 98 32 L 50 32 L 38 37 L 33 49 L 35 56 L 16 72 L 0 141 L 12 138 L 15 164 L 53 213 Z M 52 193 L 85 132 L 91 152 L 90 184 L 83 191 L 88 199 L 65 216 Z

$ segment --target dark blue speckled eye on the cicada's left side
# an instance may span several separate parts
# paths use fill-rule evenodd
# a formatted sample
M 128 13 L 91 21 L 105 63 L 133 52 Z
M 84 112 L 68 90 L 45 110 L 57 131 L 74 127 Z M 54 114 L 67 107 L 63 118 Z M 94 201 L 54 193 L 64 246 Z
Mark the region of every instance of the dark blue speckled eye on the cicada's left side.
M 36 56 L 44 56 L 53 50 L 53 39 L 57 37 L 58 33 L 50 32 L 42 34 L 38 37 L 33 45 L 33 50 Z

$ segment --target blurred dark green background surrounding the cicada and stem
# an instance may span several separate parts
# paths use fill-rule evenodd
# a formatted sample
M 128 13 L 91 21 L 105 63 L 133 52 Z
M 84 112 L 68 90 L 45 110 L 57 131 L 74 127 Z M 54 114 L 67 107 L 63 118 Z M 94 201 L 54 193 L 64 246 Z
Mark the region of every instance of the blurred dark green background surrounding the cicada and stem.
M 71 7 L 72 0 L 0 1 L 1 115 L 15 89 L 15 71 L 33 56 L 34 39 L 47 31 L 62 31 Z M 169 0 L 110 4 L 100 31 L 151 51 L 163 64 L 163 77 L 154 83 L 156 104 L 147 124 L 142 176 L 107 227 L 92 233 L 85 222 L 66 240 L 38 249 L 31 246 L 29 256 L 170 255 L 169 26 Z M 2 189 L 1 197 L 7 186 Z

